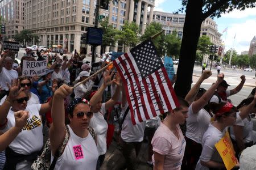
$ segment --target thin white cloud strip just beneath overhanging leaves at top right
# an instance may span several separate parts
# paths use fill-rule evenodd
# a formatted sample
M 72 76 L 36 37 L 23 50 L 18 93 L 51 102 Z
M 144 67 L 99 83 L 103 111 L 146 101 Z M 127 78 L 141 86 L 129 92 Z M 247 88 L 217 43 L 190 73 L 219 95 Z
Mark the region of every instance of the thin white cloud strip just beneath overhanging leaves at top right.
M 221 18 L 247 18 L 249 16 L 256 16 L 256 8 L 246 8 L 243 11 L 233 10 L 232 12 L 222 14 Z

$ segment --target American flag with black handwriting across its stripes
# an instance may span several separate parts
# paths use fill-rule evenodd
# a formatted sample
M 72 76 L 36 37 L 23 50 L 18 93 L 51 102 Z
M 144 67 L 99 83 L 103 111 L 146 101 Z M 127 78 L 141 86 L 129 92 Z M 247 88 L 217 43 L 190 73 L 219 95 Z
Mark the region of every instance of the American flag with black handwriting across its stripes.
M 151 39 L 119 56 L 113 63 L 123 79 L 134 125 L 179 105 Z

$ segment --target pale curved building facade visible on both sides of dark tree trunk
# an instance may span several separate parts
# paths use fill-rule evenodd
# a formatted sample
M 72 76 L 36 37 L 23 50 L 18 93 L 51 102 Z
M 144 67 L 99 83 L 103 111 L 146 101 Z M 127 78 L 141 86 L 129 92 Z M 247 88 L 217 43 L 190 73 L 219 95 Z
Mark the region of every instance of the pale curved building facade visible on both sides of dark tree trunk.
M 149 18 L 148 14 L 148 18 Z M 150 20 L 148 20 L 149 22 Z M 183 27 L 185 22 L 185 14 L 172 14 L 167 12 L 154 11 L 153 22 L 158 22 L 162 25 L 165 34 L 170 34 L 172 31 L 177 31 L 177 36 L 183 36 Z M 221 33 L 218 32 L 217 24 L 213 19 L 207 18 L 201 25 L 200 36 L 209 36 L 210 41 L 214 45 L 221 45 Z

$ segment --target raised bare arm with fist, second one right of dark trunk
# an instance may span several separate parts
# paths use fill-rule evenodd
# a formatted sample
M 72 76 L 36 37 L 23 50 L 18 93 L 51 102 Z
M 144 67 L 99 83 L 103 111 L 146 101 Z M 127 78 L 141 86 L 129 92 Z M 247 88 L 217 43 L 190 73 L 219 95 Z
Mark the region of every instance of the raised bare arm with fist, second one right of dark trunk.
M 203 96 L 201 96 L 198 100 L 192 103 L 192 111 L 193 113 L 199 112 L 205 105 L 208 104 L 208 101 L 210 100 L 210 97 L 214 94 L 216 88 L 218 87 L 218 84 L 222 82 L 224 79 L 224 74 L 218 74 L 218 78 L 216 83 L 214 83 L 205 93 Z

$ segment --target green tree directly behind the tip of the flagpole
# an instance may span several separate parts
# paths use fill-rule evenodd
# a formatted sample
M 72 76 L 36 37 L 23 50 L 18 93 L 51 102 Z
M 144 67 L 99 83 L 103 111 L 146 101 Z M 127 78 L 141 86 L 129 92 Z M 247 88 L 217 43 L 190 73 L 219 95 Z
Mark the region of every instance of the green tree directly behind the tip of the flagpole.
M 162 25 L 156 22 L 152 22 L 146 27 L 145 32 L 141 37 L 141 40 L 144 41 L 160 31 L 162 31 Z M 164 33 L 162 33 L 158 37 L 155 37 L 152 41 L 154 42 L 158 54 L 160 56 L 163 56 L 165 53 L 162 48 L 164 46 Z

